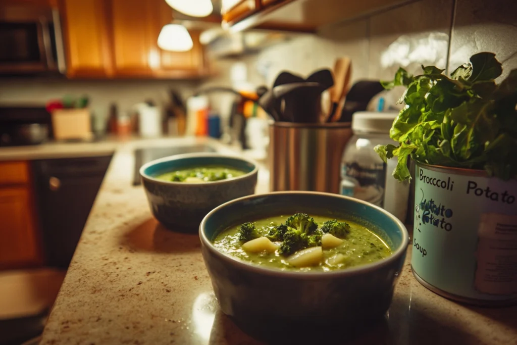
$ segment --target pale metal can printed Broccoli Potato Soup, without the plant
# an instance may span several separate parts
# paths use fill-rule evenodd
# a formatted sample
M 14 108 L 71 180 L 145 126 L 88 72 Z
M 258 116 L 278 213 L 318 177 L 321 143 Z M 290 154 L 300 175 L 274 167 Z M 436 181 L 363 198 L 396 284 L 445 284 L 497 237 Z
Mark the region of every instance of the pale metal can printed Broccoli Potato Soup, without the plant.
M 517 180 L 416 163 L 411 266 L 455 301 L 517 301 Z

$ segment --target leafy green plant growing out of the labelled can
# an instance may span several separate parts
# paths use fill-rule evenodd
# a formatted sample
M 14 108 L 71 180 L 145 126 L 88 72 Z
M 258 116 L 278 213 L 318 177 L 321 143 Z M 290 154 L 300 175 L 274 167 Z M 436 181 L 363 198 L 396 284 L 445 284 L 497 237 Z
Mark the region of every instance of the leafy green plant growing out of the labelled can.
M 399 143 L 377 145 L 386 159 L 398 157 L 393 176 L 410 179 L 407 159 L 445 167 L 484 169 L 489 176 L 517 177 L 517 69 L 497 85 L 503 69 L 495 54 L 482 52 L 455 69 L 422 66 L 410 75 L 399 68 L 387 89 L 406 86 L 405 103 L 393 122 L 390 137 Z

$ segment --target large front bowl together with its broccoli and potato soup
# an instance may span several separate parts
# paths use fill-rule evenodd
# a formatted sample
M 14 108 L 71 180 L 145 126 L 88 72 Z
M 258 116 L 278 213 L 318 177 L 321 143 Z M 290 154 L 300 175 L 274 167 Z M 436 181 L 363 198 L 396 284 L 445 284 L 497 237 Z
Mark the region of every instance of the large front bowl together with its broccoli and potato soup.
M 222 311 L 281 329 L 382 318 L 408 245 L 382 208 L 298 191 L 227 202 L 203 219 L 200 238 Z

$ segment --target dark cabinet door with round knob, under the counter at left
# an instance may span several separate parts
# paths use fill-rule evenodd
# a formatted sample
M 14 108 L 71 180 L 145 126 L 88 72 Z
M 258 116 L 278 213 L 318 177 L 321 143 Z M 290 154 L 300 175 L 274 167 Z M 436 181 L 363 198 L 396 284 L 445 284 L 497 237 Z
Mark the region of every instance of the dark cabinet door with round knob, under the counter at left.
M 110 158 L 34 162 L 47 265 L 68 267 Z

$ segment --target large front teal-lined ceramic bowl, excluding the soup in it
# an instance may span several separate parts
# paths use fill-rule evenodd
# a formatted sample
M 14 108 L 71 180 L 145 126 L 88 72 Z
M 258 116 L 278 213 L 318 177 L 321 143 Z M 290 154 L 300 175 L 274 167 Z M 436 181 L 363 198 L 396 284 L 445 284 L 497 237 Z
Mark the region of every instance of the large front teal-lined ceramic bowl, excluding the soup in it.
M 218 251 L 212 239 L 245 221 L 305 212 L 353 217 L 369 225 L 390 245 L 390 257 L 331 272 L 296 272 L 258 266 Z M 201 248 L 222 311 L 240 325 L 285 332 L 288 325 L 364 324 L 388 310 L 409 241 L 404 224 L 384 209 L 338 194 L 275 192 L 227 202 L 200 225 Z M 279 328 L 280 327 L 280 328 Z

